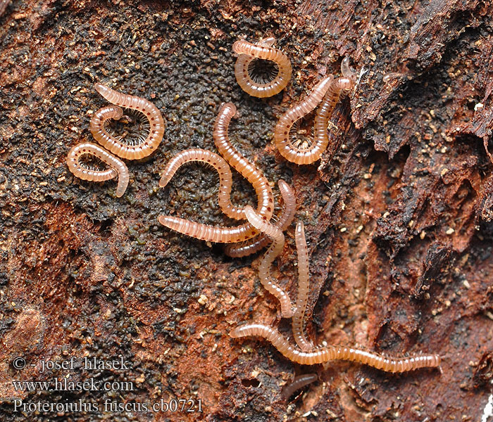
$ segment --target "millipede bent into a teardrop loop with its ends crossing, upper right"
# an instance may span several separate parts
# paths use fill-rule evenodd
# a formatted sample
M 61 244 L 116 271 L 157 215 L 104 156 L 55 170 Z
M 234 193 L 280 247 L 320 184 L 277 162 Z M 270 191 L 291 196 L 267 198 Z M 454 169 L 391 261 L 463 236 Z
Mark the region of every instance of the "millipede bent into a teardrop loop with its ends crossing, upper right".
M 318 82 L 304 101 L 287 110 L 277 122 L 274 131 L 275 146 L 288 161 L 296 164 L 311 164 L 318 160 L 327 148 L 329 143 L 327 125 L 330 116 L 339 98 L 347 95 L 356 84 L 356 74 L 349 67 L 349 58 L 342 60 L 341 72 L 342 77 L 334 79 L 329 75 Z M 289 131 L 294 122 L 311 113 L 318 103 L 320 107 L 315 117 L 313 141 L 308 148 L 298 148 L 289 140 Z

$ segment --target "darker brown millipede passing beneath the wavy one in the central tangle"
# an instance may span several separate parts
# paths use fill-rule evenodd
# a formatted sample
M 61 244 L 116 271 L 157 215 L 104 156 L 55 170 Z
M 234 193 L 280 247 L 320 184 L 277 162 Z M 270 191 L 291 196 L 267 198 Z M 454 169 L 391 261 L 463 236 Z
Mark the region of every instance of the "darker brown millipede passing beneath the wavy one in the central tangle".
M 293 221 L 294 212 L 296 212 L 296 198 L 294 198 L 294 191 L 291 186 L 284 180 L 281 179 L 277 183 L 279 184 L 279 190 L 281 192 L 282 200 L 284 201 L 284 207 L 275 226 L 278 227 L 280 231 L 285 231 Z M 246 257 L 247 255 L 251 255 L 258 250 L 265 248 L 268 243 L 270 243 L 270 238 L 265 234 L 259 234 L 239 245 L 237 243 L 227 245 L 224 250 L 225 254 L 230 257 Z

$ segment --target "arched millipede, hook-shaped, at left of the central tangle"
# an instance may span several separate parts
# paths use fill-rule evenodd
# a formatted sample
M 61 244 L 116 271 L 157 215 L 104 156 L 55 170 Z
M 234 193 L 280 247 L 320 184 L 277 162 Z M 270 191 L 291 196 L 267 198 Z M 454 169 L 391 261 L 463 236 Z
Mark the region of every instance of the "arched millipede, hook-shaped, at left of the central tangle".
M 230 166 L 227 165 L 224 158 L 220 155 L 200 148 L 192 148 L 177 153 L 166 165 L 159 186 L 163 188 L 168 184 L 177 170 L 187 162 L 200 161 L 206 162 L 216 169 L 219 174 L 219 193 L 218 201 L 221 210 L 228 217 L 234 219 L 244 219 L 243 208 L 238 208 L 232 205 L 230 200 L 231 186 L 232 186 L 232 174 Z

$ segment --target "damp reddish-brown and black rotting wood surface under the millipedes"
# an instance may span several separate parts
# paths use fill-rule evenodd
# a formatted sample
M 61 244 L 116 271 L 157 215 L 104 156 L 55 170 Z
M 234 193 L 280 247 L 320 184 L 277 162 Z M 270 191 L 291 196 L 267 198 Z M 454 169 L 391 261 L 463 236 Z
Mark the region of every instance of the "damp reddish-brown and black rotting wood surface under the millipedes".
M 0 419 L 2 421 L 480 421 L 493 347 L 493 23 L 487 1 L 32 1 L 0 16 Z M 4 4 L 2 3 L 2 4 Z M 232 44 L 276 37 L 291 82 L 260 99 L 235 80 Z M 367 70 L 337 104 L 313 165 L 277 153 L 277 119 L 344 56 Z M 384 75 L 390 74 L 384 82 Z M 127 162 L 130 183 L 77 179 L 70 148 L 93 142 L 108 104 L 95 82 L 141 96 L 166 122 L 156 153 Z M 235 225 L 215 171 L 161 172 L 186 148 L 214 147 L 237 106 L 232 143 L 275 191 L 294 187 L 308 241 L 314 343 L 404 356 L 438 353 L 443 373 L 392 375 L 351 362 L 292 364 L 241 321 L 279 326 L 261 254 L 175 234 L 160 214 Z M 313 127 L 309 118 L 301 128 Z M 120 128 L 121 129 L 121 128 Z M 135 132 L 132 124 L 125 129 Z M 118 130 L 118 127 L 116 128 Z M 131 135 L 132 133 L 130 133 Z M 308 133 L 311 139 L 313 133 Z M 485 148 L 486 147 L 486 148 Z M 254 189 L 233 174 L 232 201 Z M 278 214 L 279 210 L 275 210 Z M 294 226 L 272 274 L 297 292 Z M 39 373 L 42 360 L 131 362 L 128 371 Z M 11 362 L 24 357 L 25 369 Z M 35 366 L 30 366 L 35 364 Z M 289 404 L 283 385 L 316 372 Z M 133 391 L 15 392 L 12 381 L 132 381 Z M 95 402 L 97 412 L 21 414 L 12 399 Z M 201 399 L 203 414 L 104 414 L 105 400 Z M 109 419 L 108 419 L 109 418 Z

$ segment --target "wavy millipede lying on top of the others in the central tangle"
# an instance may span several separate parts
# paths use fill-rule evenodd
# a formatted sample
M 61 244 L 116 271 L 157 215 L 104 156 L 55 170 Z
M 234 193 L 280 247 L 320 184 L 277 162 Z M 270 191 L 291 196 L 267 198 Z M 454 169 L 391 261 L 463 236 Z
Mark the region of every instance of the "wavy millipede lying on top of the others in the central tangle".
M 260 267 L 258 267 L 258 276 L 263 287 L 279 300 L 282 316 L 289 318 L 293 314 L 291 299 L 285 290 L 274 283 L 270 278 L 270 266 L 275 258 L 282 252 L 282 248 L 284 248 L 284 234 L 282 234 L 282 231 L 279 228 L 262 219 L 262 217 L 249 205 L 246 205 L 245 207 L 245 215 L 252 226 L 273 240 L 272 245 L 270 245 L 266 254 L 263 255 Z

